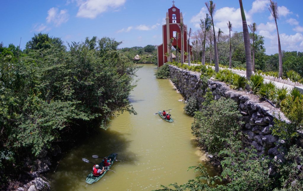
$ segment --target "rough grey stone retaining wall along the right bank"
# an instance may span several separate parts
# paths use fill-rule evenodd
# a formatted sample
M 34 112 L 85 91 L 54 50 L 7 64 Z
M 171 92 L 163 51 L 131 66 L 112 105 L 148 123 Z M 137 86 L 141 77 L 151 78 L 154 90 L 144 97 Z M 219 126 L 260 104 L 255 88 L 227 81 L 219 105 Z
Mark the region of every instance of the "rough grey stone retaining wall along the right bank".
M 258 154 L 270 155 L 276 159 L 282 158 L 284 155 L 278 151 L 275 142 L 278 137 L 271 135 L 271 126 L 273 126 L 273 119 L 289 123 L 284 114 L 277 108 L 271 106 L 266 101 L 260 101 L 259 97 L 246 91 L 232 90 L 224 82 L 214 81 L 213 78 L 207 82 L 200 79 L 200 73 L 191 72 L 180 69 L 176 66 L 169 66 L 170 76 L 175 86 L 180 93 L 185 96 L 185 100 L 190 97 L 195 97 L 198 101 L 199 108 L 204 101 L 206 89 L 209 88 L 215 100 L 221 97 L 231 98 L 238 104 L 238 110 L 242 117 L 242 131 L 247 134 L 251 145 L 254 145 Z

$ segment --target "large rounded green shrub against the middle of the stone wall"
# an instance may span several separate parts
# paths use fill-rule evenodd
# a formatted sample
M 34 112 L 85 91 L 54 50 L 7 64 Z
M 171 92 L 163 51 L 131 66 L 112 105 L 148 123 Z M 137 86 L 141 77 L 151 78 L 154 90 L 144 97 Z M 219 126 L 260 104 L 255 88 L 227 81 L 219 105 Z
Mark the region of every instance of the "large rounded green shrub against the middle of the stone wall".
M 237 135 L 240 130 L 238 118 L 241 116 L 234 100 L 222 97 L 218 101 L 211 101 L 207 109 L 195 113 L 192 123 L 192 134 L 210 153 L 217 155 L 226 146 L 223 138 Z

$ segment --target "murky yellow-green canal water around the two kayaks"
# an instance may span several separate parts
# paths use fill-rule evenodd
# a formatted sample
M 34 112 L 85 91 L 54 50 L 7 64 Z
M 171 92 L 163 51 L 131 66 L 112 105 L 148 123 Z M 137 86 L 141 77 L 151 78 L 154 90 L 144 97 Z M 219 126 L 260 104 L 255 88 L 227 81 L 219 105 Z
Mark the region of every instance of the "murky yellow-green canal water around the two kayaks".
M 204 154 L 191 135 L 193 118 L 184 113 L 183 99 L 168 80 L 156 79 L 155 65 L 145 64 L 137 72 L 138 86 L 130 100 L 138 115 L 123 113 L 111 122 L 108 130 L 87 138 L 81 146 L 65 154 L 55 173 L 49 174 L 52 190 L 152 190 L 160 185 L 182 184 L 197 174 L 188 167 L 204 164 L 209 173 L 216 173 L 205 164 Z M 154 115 L 158 110 L 172 109 L 173 123 Z M 92 164 L 98 163 L 93 154 L 107 156 L 118 153 L 118 160 L 98 182 L 90 185 L 85 178 Z

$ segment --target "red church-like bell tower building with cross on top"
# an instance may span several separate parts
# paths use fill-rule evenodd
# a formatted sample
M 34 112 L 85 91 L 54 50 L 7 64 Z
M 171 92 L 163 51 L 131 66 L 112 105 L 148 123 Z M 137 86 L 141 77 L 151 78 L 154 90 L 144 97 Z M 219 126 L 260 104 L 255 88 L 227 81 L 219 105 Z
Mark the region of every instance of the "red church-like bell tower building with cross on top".
M 174 3 L 174 1 L 173 1 Z M 169 52 L 168 43 L 169 40 L 173 37 L 174 41 L 172 43 L 172 46 L 177 49 L 177 40 L 176 40 L 176 33 L 179 34 L 178 37 L 178 49 L 180 52 L 181 57 L 181 30 L 179 29 L 180 23 L 183 23 L 183 16 L 180 12 L 180 9 L 175 7 L 175 4 L 172 5 L 171 8 L 168 9 L 168 12 L 166 12 L 166 24 L 162 25 L 162 39 L 163 43 L 158 46 L 158 67 L 162 66 L 164 63 L 168 62 L 170 59 L 169 57 L 165 56 L 165 53 Z M 188 52 L 188 43 L 187 43 L 187 29 L 186 25 L 184 25 L 184 52 Z M 190 50 L 192 48 L 191 45 L 189 45 Z M 192 55 L 192 53 L 191 53 Z M 185 56 L 184 56 L 184 61 Z

